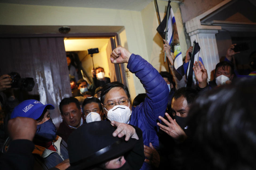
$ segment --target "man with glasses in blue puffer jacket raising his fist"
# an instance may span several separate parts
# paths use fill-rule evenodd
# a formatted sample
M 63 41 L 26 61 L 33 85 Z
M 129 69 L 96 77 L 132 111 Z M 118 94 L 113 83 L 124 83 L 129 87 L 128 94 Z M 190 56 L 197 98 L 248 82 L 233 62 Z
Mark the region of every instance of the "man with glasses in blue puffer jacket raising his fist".
M 128 63 L 127 68 L 140 79 L 147 96 L 143 103 L 134 108 L 130 104 L 130 94 L 125 85 L 119 82 L 108 83 L 101 92 L 104 113 L 110 121 L 138 126 L 143 132 L 143 142 L 146 145 L 144 152 L 152 149 L 154 153 L 153 147 L 159 147 L 157 120 L 158 116 L 165 114 L 169 88 L 150 63 L 121 46 L 113 50 L 110 60 L 112 63 Z M 148 160 L 154 155 L 146 153 L 145 156 L 147 158 L 141 169 L 151 169 L 151 165 L 146 162 L 154 163 Z

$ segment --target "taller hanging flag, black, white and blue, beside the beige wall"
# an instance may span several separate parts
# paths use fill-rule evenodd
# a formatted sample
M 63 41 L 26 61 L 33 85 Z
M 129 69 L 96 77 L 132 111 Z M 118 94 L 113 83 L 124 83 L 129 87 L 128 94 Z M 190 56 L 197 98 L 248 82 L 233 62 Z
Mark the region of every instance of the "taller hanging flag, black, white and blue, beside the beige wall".
M 181 54 L 181 46 L 179 44 L 179 36 L 177 31 L 177 26 L 174 18 L 174 13 L 170 5 L 171 1 L 168 1 L 167 11 L 164 19 L 157 27 L 157 32 L 161 35 L 163 39 L 167 39 L 166 41 L 171 46 L 171 56 L 174 58 L 174 69 L 176 77 L 181 80 L 182 77 L 185 75 L 183 69 L 183 61 L 182 61 L 182 54 Z M 167 14 L 170 14 L 167 16 Z M 168 21 L 167 21 L 168 18 Z M 168 23 L 168 25 L 167 25 Z M 166 30 L 167 25 L 167 30 Z

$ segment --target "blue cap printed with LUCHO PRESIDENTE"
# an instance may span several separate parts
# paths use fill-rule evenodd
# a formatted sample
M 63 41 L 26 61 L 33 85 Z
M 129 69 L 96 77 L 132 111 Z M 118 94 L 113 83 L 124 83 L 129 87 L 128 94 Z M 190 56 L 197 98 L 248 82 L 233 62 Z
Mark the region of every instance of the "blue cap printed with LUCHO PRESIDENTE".
M 11 113 L 11 119 L 15 117 L 29 117 L 37 120 L 43 113 L 45 107 L 49 106 L 49 109 L 54 109 L 51 104 L 42 104 L 40 101 L 30 99 L 22 101 L 18 106 L 13 109 Z

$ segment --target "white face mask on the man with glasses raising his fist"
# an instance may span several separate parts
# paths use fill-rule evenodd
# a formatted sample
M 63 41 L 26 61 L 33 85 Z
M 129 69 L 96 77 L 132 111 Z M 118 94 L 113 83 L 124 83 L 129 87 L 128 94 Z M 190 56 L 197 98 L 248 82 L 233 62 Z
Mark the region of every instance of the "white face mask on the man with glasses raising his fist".
M 130 106 L 130 102 L 129 102 L 129 106 Z M 116 105 L 109 111 L 107 111 L 107 109 L 105 107 L 104 107 L 104 109 L 106 109 L 107 118 L 110 121 L 113 120 L 113 121 L 117 121 L 120 123 L 127 123 L 127 122 L 129 122 L 130 117 L 131 117 L 131 110 L 130 110 L 129 106 L 127 107 L 124 105 Z

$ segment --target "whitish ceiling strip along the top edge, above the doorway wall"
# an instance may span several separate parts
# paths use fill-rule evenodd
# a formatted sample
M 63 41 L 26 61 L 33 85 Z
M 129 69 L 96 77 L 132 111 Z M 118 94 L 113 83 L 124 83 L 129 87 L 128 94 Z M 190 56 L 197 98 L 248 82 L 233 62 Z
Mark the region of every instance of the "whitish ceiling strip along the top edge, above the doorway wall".
M 1 3 L 141 11 L 153 0 L 0 0 Z M 167 1 L 167 0 L 166 0 Z

